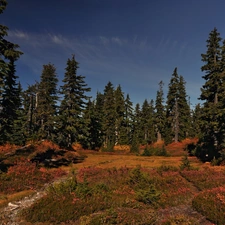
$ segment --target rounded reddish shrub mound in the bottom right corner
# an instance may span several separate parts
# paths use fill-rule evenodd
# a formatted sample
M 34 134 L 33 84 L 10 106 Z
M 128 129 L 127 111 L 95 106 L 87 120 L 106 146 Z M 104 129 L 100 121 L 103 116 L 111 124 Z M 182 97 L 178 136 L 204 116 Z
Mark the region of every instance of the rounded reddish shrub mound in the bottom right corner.
M 225 188 L 200 192 L 192 201 L 193 208 L 217 225 L 225 224 Z

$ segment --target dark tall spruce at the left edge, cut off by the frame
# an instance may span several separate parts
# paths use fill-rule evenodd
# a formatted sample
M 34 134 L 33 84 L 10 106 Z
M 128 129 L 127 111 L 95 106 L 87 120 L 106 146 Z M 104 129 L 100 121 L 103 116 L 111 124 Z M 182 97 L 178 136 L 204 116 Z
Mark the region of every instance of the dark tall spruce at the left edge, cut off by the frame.
M 0 14 L 6 6 L 7 2 L 1 0 Z M 5 39 L 7 30 L 6 26 L 0 25 L 0 144 L 13 142 L 14 121 L 20 104 L 15 61 L 22 52 L 17 50 L 17 44 Z

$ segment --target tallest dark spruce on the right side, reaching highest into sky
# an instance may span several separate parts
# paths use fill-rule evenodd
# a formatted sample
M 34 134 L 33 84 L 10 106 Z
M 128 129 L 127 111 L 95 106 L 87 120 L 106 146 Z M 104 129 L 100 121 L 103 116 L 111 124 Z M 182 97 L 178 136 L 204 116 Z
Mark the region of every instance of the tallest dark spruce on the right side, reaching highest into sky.
M 214 28 L 207 42 L 207 51 L 201 54 L 204 65 L 201 70 L 205 72 L 202 77 L 205 84 L 201 88 L 200 99 L 202 108 L 202 138 L 200 139 L 201 157 L 207 160 L 219 157 L 224 145 L 224 49 L 221 49 L 220 33 Z

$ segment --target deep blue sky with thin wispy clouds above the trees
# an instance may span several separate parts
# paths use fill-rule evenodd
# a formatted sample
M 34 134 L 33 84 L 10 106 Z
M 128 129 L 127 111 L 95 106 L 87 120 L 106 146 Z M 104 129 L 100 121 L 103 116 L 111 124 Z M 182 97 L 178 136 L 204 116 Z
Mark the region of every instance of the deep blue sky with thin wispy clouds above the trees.
M 224 0 L 8 0 L 0 23 L 24 52 L 17 62 L 24 88 L 39 81 L 48 63 L 61 84 L 75 54 L 93 98 L 111 81 L 142 104 L 155 100 L 161 80 L 166 98 L 177 67 L 194 106 L 208 35 L 217 27 L 225 38 L 224 9 Z

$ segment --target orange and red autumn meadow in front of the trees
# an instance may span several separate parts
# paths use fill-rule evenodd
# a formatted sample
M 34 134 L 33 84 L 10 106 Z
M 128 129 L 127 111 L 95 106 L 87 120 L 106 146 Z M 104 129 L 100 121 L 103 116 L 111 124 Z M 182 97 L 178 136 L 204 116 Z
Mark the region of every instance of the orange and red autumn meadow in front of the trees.
M 59 168 L 14 155 L 0 173 L 0 207 L 67 176 L 19 213 L 21 224 L 225 224 L 225 168 L 185 157 L 186 144 L 167 146 L 167 156 L 79 149 L 83 161 Z

